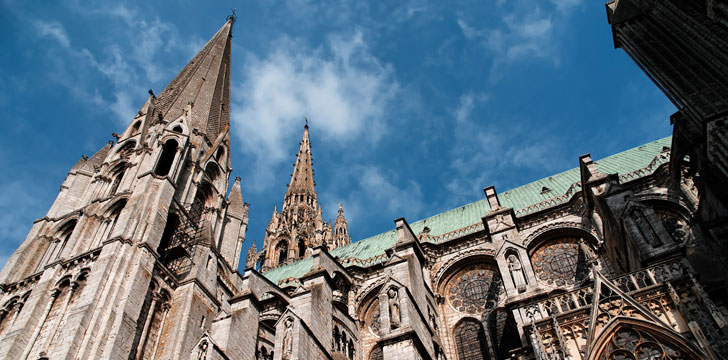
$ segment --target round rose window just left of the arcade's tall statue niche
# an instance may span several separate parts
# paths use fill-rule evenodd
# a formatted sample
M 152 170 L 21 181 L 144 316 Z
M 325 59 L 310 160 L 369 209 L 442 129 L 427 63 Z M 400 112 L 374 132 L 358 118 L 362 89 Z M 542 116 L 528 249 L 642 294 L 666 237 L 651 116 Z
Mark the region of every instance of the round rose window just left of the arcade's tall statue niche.
M 448 300 L 460 312 L 482 313 L 495 307 L 503 292 L 498 271 L 485 264 L 471 265 L 460 270 L 448 284 Z

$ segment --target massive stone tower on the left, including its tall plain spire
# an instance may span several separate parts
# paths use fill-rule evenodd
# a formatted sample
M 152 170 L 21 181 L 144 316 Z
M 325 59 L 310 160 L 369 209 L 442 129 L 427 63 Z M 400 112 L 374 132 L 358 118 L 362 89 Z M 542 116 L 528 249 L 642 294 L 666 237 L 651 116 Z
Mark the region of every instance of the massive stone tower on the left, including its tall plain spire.
M 0 273 L 0 357 L 179 359 L 229 311 L 248 222 L 239 178 L 225 197 L 234 21 L 70 170 Z

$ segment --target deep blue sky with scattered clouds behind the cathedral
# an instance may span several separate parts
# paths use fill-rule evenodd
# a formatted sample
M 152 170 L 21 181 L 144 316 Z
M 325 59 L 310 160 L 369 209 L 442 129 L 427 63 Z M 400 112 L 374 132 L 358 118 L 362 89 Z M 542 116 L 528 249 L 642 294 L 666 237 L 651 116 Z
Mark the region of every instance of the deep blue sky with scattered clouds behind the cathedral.
M 667 136 L 675 109 L 603 0 L 0 0 L 0 263 L 68 170 L 237 9 L 232 166 L 262 243 L 311 126 L 324 217 L 354 240 Z

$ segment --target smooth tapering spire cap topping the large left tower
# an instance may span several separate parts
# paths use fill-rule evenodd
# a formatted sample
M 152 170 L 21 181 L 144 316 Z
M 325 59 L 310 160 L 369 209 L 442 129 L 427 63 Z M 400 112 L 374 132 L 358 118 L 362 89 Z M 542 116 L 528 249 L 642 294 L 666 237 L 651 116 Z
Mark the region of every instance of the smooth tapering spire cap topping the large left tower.
M 231 16 L 215 36 L 167 85 L 156 101 L 165 120 L 182 115 L 193 104 L 189 125 L 214 141 L 230 123 L 230 43 L 235 17 Z

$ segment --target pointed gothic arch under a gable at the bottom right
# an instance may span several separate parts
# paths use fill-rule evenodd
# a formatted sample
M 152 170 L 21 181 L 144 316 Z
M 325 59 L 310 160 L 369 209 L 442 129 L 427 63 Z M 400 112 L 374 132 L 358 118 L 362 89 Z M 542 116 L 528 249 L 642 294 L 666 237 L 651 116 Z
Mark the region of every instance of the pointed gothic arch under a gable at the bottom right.
M 617 356 L 624 359 L 665 359 L 664 355 L 670 356 L 670 359 L 706 358 L 671 329 L 650 321 L 620 316 L 612 319 L 592 341 L 585 360 L 612 360 Z

